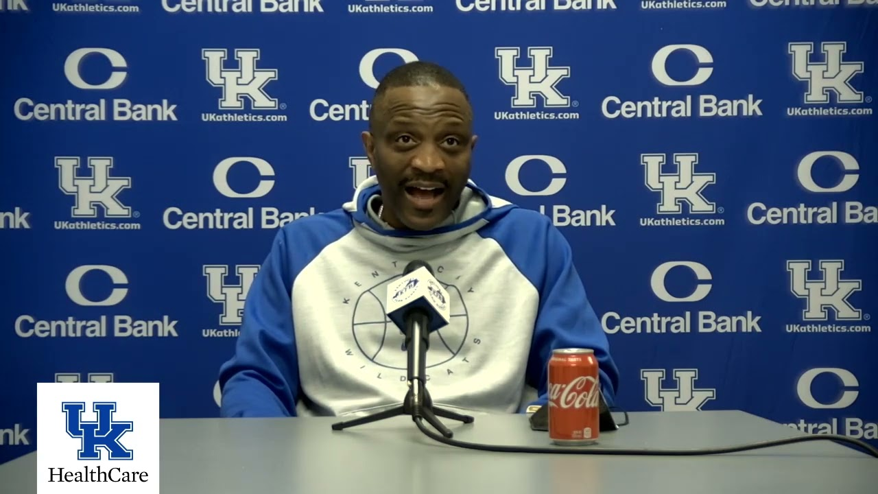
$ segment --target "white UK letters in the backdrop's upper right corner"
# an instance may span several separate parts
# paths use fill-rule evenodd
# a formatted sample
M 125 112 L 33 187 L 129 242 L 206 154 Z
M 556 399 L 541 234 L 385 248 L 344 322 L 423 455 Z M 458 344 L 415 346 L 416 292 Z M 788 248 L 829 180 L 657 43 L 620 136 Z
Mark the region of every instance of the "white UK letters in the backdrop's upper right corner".
M 845 41 L 826 41 L 820 43 L 823 60 L 814 56 L 814 43 L 789 43 L 788 53 L 792 56 L 793 76 L 808 84 L 804 102 L 807 105 L 829 103 L 830 94 L 835 95 L 838 104 L 863 103 L 862 91 L 857 91 L 851 79 L 862 74 L 863 62 L 846 62 Z

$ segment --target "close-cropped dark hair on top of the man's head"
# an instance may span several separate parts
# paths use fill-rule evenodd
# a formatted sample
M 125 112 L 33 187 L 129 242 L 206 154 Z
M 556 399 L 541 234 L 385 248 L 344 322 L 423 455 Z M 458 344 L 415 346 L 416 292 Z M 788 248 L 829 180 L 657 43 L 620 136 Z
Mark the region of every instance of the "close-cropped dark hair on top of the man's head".
M 378 123 L 386 120 L 384 100 L 387 91 L 412 87 L 435 87 L 460 91 L 469 105 L 470 97 L 466 93 L 464 84 L 449 69 L 433 62 L 408 62 L 392 69 L 378 84 L 369 113 L 369 129 L 371 131 L 375 130 Z

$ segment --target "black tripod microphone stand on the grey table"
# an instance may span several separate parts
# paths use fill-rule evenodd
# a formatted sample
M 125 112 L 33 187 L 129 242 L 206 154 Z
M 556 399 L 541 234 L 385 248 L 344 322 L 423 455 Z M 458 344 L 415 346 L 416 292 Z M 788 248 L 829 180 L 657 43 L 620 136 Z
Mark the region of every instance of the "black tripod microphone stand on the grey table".
M 412 309 L 406 317 L 406 349 L 408 351 L 408 392 L 402 404 L 390 410 L 379 411 L 372 415 L 354 418 L 345 422 L 332 425 L 333 431 L 341 431 L 356 425 L 370 424 L 385 418 L 399 415 L 410 415 L 414 421 L 419 418 L 427 420 L 444 437 L 452 438 L 454 434 L 446 427 L 438 417 L 458 420 L 464 424 L 471 424 L 475 418 L 469 415 L 461 415 L 451 410 L 445 410 L 433 406 L 433 399 L 427 390 L 427 350 L 429 348 L 430 333 L 427 330 L 428 315 L 422 309 Z

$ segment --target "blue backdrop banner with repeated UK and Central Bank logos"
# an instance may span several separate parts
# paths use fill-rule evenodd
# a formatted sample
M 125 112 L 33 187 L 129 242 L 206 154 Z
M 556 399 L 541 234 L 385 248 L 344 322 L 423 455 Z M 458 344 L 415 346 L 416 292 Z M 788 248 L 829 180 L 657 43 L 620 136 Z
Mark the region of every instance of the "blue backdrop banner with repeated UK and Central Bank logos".
M 217 417 L 273 236 L 371 174 L 414 60 L 569 239 L 624 410 L 878 444 L 878 0 L 0 0 L 0 40 L 0 461 L 37 382 Z

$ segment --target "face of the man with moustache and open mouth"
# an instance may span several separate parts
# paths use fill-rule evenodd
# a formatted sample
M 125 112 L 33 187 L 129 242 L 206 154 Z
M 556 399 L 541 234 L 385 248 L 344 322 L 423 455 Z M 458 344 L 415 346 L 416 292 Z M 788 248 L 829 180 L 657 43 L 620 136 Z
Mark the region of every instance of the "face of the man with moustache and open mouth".
M 415 86 L 391 89 L 375 106 L 363 146 L 381 185 L 384 221 L 395 229 L 433 229 L 470 178 L 470 104 L 451 88 Z

